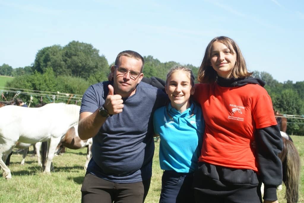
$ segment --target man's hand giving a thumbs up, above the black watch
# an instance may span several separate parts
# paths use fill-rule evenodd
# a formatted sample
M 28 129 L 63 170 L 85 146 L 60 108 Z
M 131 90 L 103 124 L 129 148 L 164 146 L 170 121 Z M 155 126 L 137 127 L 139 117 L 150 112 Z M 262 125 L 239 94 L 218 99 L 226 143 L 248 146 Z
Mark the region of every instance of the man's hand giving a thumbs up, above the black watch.
M 104 107 L 108 110 L 109 114 L 118 114 L 123 111 L 123 100 L 119 94 L 114 94 L 112 85 L 108 85 L 109 93 L 105 99 Z

